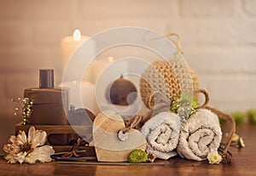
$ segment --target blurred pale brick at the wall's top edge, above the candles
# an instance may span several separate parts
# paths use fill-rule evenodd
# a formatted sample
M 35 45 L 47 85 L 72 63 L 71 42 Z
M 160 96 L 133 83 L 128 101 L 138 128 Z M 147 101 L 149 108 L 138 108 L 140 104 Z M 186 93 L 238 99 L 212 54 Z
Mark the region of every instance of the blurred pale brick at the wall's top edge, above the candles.
M 150 19 L 169 18 L 177 14 L 177 0 L 160 1 L 81 1 L 84 19 Z

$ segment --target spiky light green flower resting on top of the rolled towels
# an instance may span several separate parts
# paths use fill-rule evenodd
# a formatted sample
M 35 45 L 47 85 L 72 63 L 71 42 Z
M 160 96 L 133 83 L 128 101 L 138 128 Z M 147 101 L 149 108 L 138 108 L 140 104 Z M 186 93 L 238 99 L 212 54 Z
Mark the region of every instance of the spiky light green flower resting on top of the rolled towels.
M 172 101 L 172 111 L 181 117 L 182 122 L 186 122 L 189 116 L 195 114 L 195 108 L 198 106 L 197 99 L 189 93 L 183 93 L 180 98 L 175 97 Z

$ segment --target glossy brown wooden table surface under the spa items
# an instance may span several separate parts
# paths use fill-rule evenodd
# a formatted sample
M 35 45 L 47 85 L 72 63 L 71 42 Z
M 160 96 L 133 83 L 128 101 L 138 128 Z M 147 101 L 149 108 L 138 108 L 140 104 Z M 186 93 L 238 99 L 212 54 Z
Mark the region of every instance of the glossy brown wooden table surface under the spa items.
M 7 164 L 0 158 L 0 175 L 256 175 L 256 126 L 244 124 L 236 129 L 243 137 L 246 147 L 231 147 L 232 165 L 211 165 L 207 161 L 192 162 L 179 157 L 156 162 L 162 165 L 82 165 L 59 162 L 30 164 Z

